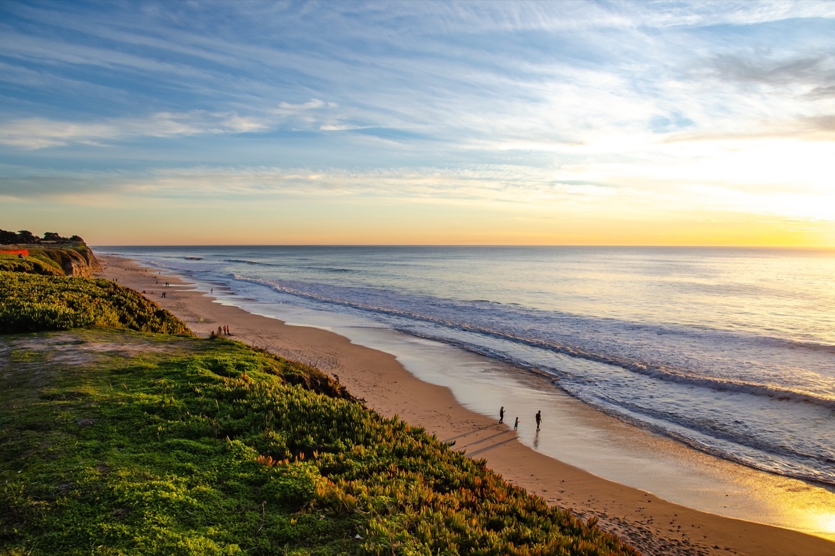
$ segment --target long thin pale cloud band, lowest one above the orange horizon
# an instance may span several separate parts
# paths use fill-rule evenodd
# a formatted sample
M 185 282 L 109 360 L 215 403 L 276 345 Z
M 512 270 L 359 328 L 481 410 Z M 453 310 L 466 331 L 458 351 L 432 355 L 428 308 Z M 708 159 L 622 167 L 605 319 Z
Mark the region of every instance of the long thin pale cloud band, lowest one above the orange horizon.
M 509 178 L 513 175 L 514 178 Z M 564 176 L 568 174 L 563 173 Z M 0 182 L 0 193 L 18 198 L 78 194 L 102 198 L 260 198 L 332 197 L 412 199 L 433 203 L 473 203 L 490 198 L 504 203 L 572 203 L 616 193 L 601 183 L 560 180 L 553 172 L 502 165 L 470 168 L 170 168 L 131 177 L 95 173 L 67 178 L 62 173 L 20 175 Z M 46 185 L 44 185 L 46 184 Z

